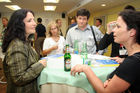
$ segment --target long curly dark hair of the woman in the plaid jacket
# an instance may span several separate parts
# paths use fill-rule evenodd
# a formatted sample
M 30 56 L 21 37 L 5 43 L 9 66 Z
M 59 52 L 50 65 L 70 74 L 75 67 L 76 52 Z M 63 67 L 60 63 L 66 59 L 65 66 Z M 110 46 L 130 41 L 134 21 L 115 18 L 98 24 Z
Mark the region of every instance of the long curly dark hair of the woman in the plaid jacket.
M 10 42 L 13 39 L 20 39 L 21 41 L 26 41 L 25 36 L 25 23 L 23 22 L 24 18 L 27 16 L 27 13 L 31 10 L 20 9 L 15 11 L 8 22 L 7 30 L 4 33 L 4 39 L 2 44 L 2 51 L 6 52 Z

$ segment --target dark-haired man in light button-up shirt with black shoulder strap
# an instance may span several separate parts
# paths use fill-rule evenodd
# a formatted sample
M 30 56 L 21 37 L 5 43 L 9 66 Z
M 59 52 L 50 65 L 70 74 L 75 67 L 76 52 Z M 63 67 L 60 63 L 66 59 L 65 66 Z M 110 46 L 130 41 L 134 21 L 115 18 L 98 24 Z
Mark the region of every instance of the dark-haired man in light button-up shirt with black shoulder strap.
M 87 52 L 89 54 L 96 54 L 96 44 L 95 39 L 92 34 L 90 25 L 88 24 L 88 19 L 90 17 L 90 12 L 86 9 L 80 9 L 77 11 L 76 20 L 77 25 L 69 29 L 66 36 L 66 43 L 69 44 L 71 48 L 74 48 L 74 41 L 86 42 Z M 100 41 L 103 37 L 101 31 L 96 27 L 92 26 L 95 34 L 96 41 Z M 99 51 L 99 54 L 103 54 L 103 51 Z

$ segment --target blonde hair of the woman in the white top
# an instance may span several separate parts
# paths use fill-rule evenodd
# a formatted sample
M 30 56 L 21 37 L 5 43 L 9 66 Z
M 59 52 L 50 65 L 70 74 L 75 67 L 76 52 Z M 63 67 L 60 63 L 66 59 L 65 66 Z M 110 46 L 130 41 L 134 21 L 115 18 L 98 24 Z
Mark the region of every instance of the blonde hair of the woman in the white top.
M 51 27 L 52 26 L 56 26 L 57 30 L 58 30 L 58 36 L 60 35 L 60 29 L 59 26 L 57 25 L 57 23 L 55 21 L 51 21 L 49 22 L 49 24 L 47 25 L 47 32 L 46 32 L 46 37 L 51 37 L 52 33 L 51 33 Z

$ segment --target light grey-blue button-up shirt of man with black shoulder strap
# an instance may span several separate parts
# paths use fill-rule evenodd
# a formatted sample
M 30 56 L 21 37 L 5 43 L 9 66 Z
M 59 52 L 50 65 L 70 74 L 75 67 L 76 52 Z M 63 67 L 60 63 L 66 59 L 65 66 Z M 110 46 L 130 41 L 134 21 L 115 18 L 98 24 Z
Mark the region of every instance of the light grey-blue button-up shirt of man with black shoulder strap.
M 92 26 L 92 28 L 94 30 L 97 42 L 100 41 L 103 37 L 103 34 L 96 26 Z M 87 43 L 87 51 L 89 54 L 96 53 L 95 40 L 94 40 L 90 25 L 87 25 L 87 27 L 84 29 L 84 31 L 79 29 L 78 25 L 69 29 L 67 36 L 66 36 L 66 44 L 69 44 L 69 46 L 71 48 L 74 48 L 74 41 L 75 40 L 78 40 L 78 42 L 81 42 L 81 41 L 86 42 Z

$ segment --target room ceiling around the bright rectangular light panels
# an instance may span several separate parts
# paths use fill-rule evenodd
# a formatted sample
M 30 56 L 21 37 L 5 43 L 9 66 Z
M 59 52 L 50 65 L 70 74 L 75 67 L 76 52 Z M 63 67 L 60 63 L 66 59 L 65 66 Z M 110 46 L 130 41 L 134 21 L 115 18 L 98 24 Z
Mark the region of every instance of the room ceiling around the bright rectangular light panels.
M 12 10 L 4 7 L 5 5 L 19 5 L 21 8 L 31 9 L 34 12 L 44 12 L 44 5 L 56 5 L 55 12 L 68 13 L 73 8 L 74 10 L 81 8 L 79 3 L 84 0 L 60 0 L 58 4 L 44 4 L 43 0 L 11 0 L 12 3 L 0 3 L 0 12 L 12 12 Z M 83 8 L 87 8 L 90 11 L 102 11 L 119 5 L 127 4 L 136 0 L 91 0 L 91 2 L 83 5 Z M 102 7 L 101 4 L 105 3 L 107 6 Z M 79 7 L 78 7 L 79 6 Z M 77 8 L 76 8 L 77 7 Z

